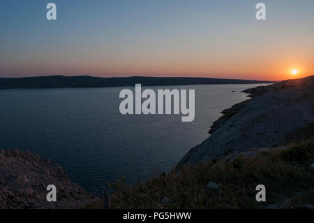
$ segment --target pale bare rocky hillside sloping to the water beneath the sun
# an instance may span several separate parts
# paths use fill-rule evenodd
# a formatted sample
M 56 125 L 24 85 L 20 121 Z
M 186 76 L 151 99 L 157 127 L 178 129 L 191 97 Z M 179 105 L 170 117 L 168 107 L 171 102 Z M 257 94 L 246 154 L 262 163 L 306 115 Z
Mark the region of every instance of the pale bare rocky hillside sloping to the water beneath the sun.
M 209 130 L 211 136 L 192 148 L 179 165 L 276 147 L 314 122 L 314 75 L 244 92 L 251 99 L 224 110 Z

